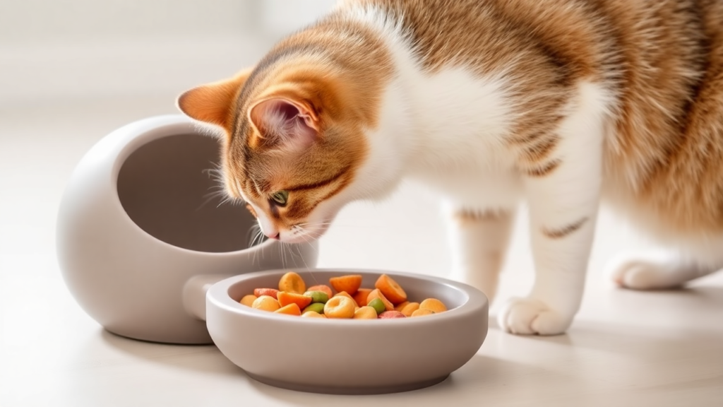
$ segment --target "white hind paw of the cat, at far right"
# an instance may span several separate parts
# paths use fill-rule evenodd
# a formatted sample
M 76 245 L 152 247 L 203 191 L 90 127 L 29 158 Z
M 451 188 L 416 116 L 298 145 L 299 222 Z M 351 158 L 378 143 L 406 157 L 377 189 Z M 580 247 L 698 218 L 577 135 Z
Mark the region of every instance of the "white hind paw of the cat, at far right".
M 669 265 L 651 259 L 629 259 L 613 264 L 610 277 L 620 287 L 632 290 L 675 288 L 681 281 L 672 275 Z

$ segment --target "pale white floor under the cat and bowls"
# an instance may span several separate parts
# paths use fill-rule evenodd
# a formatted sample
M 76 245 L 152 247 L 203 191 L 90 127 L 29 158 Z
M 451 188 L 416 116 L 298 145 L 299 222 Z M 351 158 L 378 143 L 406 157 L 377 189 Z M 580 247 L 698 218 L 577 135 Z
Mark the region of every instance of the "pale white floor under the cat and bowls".
M 105 332 L 61 279 L 56 209 L 74 164 L 95 141 L 134 119 L 174 112 L 173 97 L 0 111 L 0 406 L 723 405 L 723 274 L 680 291 L 612 287 L 604 261 L 646 243 L 607 213 L 567 335 L 517 337 L 491 324 L 479 353 L 425 390 L 367 397 L 279 390 L 249 379 L 213 346 Z M 444 276 L 449 255 L 436 205 L 424 188 L 405 185 L 387 202 L 348 207 L 323 239 L 320 266 Z M 520 221 L 501 298 L 531 284 Z

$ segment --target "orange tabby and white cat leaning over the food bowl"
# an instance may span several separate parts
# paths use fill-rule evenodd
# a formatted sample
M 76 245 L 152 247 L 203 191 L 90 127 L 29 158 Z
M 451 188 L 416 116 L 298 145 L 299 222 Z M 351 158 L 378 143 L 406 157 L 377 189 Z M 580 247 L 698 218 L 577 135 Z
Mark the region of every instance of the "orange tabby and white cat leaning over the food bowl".
M 404 177 L 439 191 L 455 278 L 492 300 L 515 208 L 535 280 L 502 330 L 557 335 L 601 202 L 672 249 L 626 288 L 723 267 L 723 1 L 351 0 L 177 105 L 223 138 L 225 188 L 269 238 L 320 237 Z

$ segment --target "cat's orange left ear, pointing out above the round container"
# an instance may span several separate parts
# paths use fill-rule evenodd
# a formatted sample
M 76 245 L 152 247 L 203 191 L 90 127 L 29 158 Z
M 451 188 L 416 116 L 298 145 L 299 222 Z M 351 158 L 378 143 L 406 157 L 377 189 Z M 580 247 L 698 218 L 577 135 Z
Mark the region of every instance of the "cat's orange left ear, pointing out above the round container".
M 176 105 L 188 117 L 221 126 L 230 133 L 236 97 L 251 75 L 251 71 L 251 69 L 243 70 L 231 79 L 186 91 L 179 96 Z

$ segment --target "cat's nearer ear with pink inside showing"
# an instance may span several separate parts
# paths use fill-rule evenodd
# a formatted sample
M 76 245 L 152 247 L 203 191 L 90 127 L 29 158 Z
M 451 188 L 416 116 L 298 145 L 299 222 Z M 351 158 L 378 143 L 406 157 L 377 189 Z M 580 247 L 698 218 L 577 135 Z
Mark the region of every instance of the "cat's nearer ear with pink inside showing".
M 249 146 L 301 151 L 319 136 L 319 118 L 307 104 L 287 98 L 270 98 L 255 104 L 249 119 L 258 132 Z

